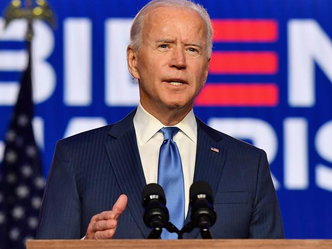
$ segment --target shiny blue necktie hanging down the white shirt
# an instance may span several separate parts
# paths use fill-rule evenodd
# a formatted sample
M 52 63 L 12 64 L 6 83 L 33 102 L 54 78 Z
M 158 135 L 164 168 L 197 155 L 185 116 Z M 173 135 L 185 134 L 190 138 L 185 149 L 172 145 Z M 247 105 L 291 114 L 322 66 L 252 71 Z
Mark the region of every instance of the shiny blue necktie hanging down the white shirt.
M 170 212 L 170 222 L 179 230 L 184 223 L 184 180 L 181 157 L 173 136 L 179 131 L 177 127 L 161 128 L 163 142 L 160 146 L 158 161 L 158 184 L 166 195 L 166 207 Z M 177 239 L 176 233 L 162 230 L 162 239 Z

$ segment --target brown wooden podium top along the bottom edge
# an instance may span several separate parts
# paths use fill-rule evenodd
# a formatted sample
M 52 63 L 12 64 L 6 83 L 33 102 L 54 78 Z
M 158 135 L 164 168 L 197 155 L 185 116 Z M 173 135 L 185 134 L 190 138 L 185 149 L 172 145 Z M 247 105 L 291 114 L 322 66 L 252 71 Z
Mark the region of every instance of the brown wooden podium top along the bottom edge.
M 331 249 L 332 240 L 289 239 L 124 239 L 124 240 L 28 240 L 27 249 L 237 249 L 237 248 L 287 248 L 287 249 Z

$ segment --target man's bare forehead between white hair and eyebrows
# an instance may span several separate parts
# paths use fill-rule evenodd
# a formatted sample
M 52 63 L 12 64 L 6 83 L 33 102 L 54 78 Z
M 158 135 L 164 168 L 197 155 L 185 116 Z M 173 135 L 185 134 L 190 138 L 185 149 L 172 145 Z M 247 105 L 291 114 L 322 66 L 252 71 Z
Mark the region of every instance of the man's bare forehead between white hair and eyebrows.
M 194 10 L 158 7 L 145 16 L 143 34 L 145 38 L 180 36 L 205 41 L 206 26 L 203 18 Z

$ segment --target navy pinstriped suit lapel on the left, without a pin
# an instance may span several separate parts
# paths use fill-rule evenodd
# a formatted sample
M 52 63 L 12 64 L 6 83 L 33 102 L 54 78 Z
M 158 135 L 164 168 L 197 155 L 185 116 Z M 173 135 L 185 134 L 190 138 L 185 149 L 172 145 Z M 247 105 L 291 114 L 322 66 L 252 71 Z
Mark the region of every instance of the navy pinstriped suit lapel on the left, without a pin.
M 135 112 L 113 125 L 109 135 L 114 139 L 108 141 L 105 147 L 120 189 L 128 196 L 128 208 L 142 235 L 147 238 L 150 231 L 143 222 L 141 206 L 141 191 L 146 181 L 133 126 Z

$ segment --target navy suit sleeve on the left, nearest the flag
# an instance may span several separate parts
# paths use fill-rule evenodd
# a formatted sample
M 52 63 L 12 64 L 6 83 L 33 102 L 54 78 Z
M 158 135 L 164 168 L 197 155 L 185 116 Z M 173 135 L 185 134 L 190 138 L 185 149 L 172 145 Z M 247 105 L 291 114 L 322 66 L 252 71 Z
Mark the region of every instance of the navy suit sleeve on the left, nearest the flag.
M 37 239 L 80 239 L 81 201 L 73 161 L 57 142 L 39 214 Z

